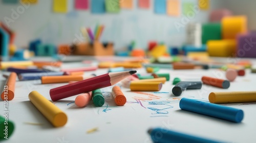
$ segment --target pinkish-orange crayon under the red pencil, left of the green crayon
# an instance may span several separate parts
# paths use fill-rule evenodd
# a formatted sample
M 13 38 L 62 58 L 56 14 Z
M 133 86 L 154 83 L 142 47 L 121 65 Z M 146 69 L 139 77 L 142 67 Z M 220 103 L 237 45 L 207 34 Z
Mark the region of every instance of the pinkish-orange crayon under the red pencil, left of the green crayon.
M 84 107 L 84 106 L 87 106 L 91 100 L 92 100 L 92 91 L 82 93 L 79 96 L 77 96 L 75 99 L 75 104 L 78 107 Z

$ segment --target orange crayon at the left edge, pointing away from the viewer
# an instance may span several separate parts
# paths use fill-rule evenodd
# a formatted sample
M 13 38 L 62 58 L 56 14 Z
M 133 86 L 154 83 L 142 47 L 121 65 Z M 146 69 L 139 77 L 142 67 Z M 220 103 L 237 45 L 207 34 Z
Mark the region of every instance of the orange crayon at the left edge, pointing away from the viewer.
M 1 98 L 3 101 L 5 100 L 12 100 L 14 98 L 14 90 L 15 90 L 15 83 L 16 83 L 16 73 L 12 72 L 8 79 L 6 80 L 6 84 L 4 85 L 4 90 L 1 94 Z

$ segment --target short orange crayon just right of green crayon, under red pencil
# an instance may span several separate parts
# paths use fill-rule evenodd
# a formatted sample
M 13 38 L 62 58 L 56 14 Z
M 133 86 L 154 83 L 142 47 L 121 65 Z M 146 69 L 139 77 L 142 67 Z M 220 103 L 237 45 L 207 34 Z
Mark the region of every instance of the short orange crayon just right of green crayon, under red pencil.
M 114 86 L 112 88 L 112 95 L 117 105 L 123 106 L 126 103 L 126 98 L 119 86 Z

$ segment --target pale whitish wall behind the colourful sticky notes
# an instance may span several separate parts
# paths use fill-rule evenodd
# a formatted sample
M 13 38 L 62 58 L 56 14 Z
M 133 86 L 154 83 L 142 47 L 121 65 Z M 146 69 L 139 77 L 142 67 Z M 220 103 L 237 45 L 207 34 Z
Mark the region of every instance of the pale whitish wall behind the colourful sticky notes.
M 91 0 L 93 1 L 93 0 Z M 193 2 L 197 0 L 182 0 Z M 71 43 L 80 35 L 80 27 L 94 28 L 97 23 L 103 24 L 105 30 L 101 41 L 113 41 L 116 50 L 124 49 L 131 40 L 136 40 L 137 46 L 146 48 L 148 40 L 163 41 L 167 45 L 180 46 L 185 41 L 185 28 L 176 29 L 174 23 L 181 22 L 184 16 L 170 17 L 158 15 L 153 11 L 138 9 L 137 0 L 134 1 L 133 10 L 121 10 L 118 14 L 91 14 L 88 11 L 73 10 L 73 0 L 69 0 L 70 12 L 60 14 L 52 12 L 51 0 L 38 0 L 37 5 L 31 5 L 25 12 L 19 14 L 10 27 L 16 31 L 15 43 L 19 47 L 28 45 L 28 42 L 40 38 L 45 43 Z M 153 0 L 151 0 L 153 4 Z M 12 9 L 17 11 L 19 5 L 0 4 L 0 19 L 11 18 Z M 211 1 L 211 9 L 223 6 L 221 0 Z M 200 11 L 190 21 L 206 22 L 209 11 Z

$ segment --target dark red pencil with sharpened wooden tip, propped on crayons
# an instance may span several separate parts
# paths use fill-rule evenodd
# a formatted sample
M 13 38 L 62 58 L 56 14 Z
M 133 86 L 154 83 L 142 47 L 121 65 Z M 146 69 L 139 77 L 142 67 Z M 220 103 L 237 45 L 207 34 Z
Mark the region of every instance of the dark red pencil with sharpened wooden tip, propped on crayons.
M 52 88 L 50 90 L 50 97 L 52 101 L 57 101 L 84 92 L 89 92 L 95 89 L 108 87 L 118 83 L 119 81 L 135 73 L 137 73 L 136 70 L 107 73 L 90 79 Z

